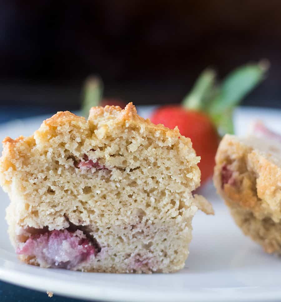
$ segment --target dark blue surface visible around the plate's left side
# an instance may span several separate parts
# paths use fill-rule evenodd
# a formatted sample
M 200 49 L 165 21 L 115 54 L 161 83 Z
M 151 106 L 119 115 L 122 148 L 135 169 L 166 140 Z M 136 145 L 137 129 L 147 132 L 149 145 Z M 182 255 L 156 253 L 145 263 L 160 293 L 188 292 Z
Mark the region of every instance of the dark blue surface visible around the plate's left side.
M 53 112 L 52 108 L 46 107 L 12 107 L 0 106 L 0 124 L 11 121 L 16 118 L 28 118 L 40 114 L 48 114 Z M 0 301 L 1 302 L 84 302 L 85 300 L 77 300 L 56 295 L 52 298 L 47 293 L 35 290 L 25 289 L 20 286 L 12 285 L 0 281 Z

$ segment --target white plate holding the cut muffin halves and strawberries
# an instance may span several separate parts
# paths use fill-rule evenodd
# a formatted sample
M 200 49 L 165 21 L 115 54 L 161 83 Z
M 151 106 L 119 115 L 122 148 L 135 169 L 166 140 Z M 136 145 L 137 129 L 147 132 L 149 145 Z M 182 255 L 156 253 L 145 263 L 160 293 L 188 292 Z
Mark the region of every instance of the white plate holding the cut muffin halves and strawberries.
M 139 108 L 147 117 L 151 107 Z M 235 129 L 244 134 L 252 121 L 281 129 L 281 111 L 256 108 L 235 112 Z M 0 127 L 4 136 L 29 135 L 42 116 Z M 1 190 L 1 189 L 0 189 Z M 9 243 L 4 221 L 8 197 L 0 191 L 0 279 L 36 290 L 108 301 L 265 301 L 281 300 L 281 259 L 267 255 L 242 235 L 210 182 L 200 190 L 215 216 L 197 213 L 185 268 L 174 274 L 101 274 L 42 269 L 22 264 Z

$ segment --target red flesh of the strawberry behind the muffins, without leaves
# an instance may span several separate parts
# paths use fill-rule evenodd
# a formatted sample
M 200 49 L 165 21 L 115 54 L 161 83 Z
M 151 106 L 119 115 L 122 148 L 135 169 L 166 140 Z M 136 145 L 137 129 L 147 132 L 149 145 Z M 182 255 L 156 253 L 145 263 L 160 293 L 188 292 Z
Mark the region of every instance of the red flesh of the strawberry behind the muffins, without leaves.
M 213 175 L 219 136 L 206 114 L 186 110 L 182 106 L 163 106 L 156 109 L 150 119 L 154 124 L 163 124 L 171 129 L 178 126 L 181 135 L 190 137 L 196 154 L 201 156 L 198 165 L 201 170 L 201 183 Z

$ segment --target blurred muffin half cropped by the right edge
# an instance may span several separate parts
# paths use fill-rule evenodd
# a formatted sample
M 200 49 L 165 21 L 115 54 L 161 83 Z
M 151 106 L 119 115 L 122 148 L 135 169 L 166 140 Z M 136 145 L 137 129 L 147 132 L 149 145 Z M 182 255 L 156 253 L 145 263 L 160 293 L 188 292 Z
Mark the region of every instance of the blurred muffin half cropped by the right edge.
M 263 129 L 261 137 L 224 136 L 214 184 L 244 234 L 281 254 L 281 143 Z

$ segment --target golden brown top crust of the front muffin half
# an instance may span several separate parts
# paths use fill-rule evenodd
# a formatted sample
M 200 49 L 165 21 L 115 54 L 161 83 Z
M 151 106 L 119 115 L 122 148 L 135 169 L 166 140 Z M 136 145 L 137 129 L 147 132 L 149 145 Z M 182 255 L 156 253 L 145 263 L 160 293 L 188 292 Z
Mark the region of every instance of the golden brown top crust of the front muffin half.
M 91 124 L 102 125 L 101 121 L 103 121 L 105 117 L 107 117 L 107 119 L 111 118 L 112 120 L 114 120 L 115 124 L 117 124 L 118 122 L 120 124 L 128 122 L 140 127 L 147 127 L 153 133 L 159 132 L 161 134 L 164 134 L 167 138 L 177 138 L 186 146 L 192 147 L 190 138 L 181 136 L 178 127 L 175 127 L 175 129 L 171 130 L 169 128 L 166 128 L 164 125 L 155 125 L 149 119 L 140 117 L 137 114 L 136 107 L 132 102 L 128 103 L 123 110 L 119 106 L 92 107 L 90 109 L 90 115 L 87 121 L 84 117 L 77 116 L 70 111 L 58 111 L 52 117 L 43 121 L 40 128 L 35 131 L 34 135 L 28 137 L 19 136 L 15 139 L 6 137 L 3 140 L 3 151 L 2 157 L 0 158 L 2 168 L 0 167 L 0 172 L 6 171 L 7 167 L 12 166 L 10 159 L 15 158 L 16 154 L 14 152 L 14 149 L 19 146 L 19 143 L 21 144 L 22 142 L 24 142 L 25 144 L 27 144 L 27 146 L 32 147 L 36 144 L 36 139 L 40 139 L 41 143 L 42 141 L 46 141 L 47 144 L 47 142 L 54 135 L 56 135 L 57 129 L 65 124 L 76 126 L 77 128 L 84 131 L 86 136 L 87 134 L 89 134 L 87 133 L 89 132 L 88 124 L 90 124 L 90 130 L 94 130 L 95 128 L 91 129 Z M 197 158 L 199 162 L 200 156 L 197 156 Z M 198 172 L 200 173 L 199 168 Z

